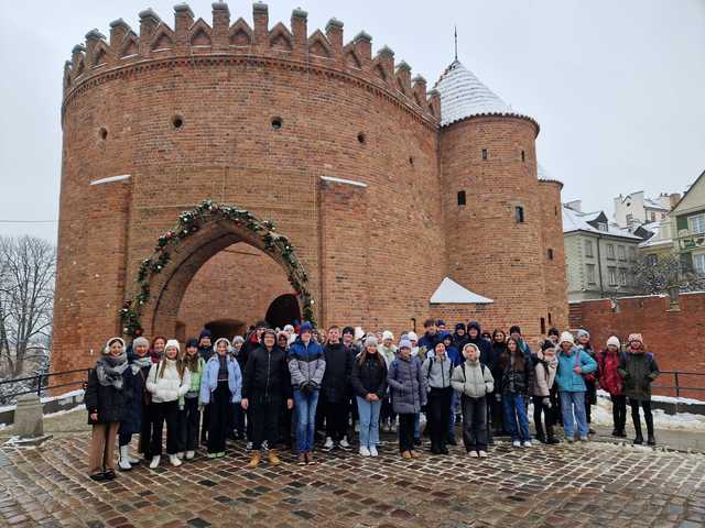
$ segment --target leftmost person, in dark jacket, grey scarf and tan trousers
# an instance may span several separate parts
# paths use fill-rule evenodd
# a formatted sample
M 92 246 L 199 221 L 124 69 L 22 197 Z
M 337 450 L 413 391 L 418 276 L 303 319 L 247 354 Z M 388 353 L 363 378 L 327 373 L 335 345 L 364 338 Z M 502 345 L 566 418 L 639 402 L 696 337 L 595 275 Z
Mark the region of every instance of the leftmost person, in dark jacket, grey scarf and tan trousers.
M 111 338 L 102 355 L 88 373 L 84 403 L 91 426 L 88 475 L 96 482 L 115 479 L 115 441 L 129 395 L 124 389 L 124 373 L 129 369 L 124 341 Z

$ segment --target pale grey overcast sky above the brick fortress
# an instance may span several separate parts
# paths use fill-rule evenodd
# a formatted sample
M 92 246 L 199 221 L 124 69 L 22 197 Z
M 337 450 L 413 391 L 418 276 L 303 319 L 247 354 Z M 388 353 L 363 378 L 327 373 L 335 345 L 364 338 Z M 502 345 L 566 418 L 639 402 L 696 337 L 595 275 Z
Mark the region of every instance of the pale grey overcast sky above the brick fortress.
M 152 7 L 173 26 L 174 0 L 0 0 L 0 234 L 53 240 L 58 217 L 64 61 L 88 30 L 109 33 Z M 210 0 L 188 2 L 212 22 Z M 230 1 L 251 23 L 251 3 Z M 606 209 L 620 193 L 683 191 L 705 169 L 705 0 L 279 0 L 270 25 L 308 11 L 345 40 L 360 30 L 412 75 L 435 82 L 453 59 L 541 124 L 540 163 L 565 184 L 563 201 Z M 54 223 L 7 223 L 7 220 Z

